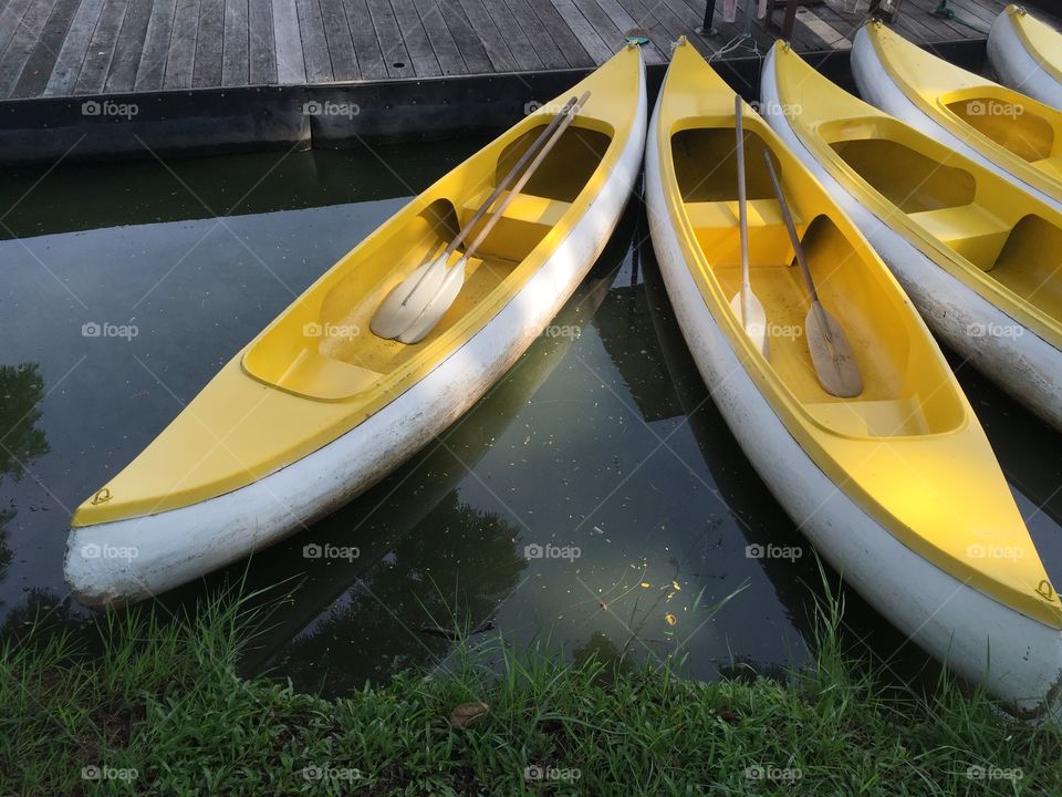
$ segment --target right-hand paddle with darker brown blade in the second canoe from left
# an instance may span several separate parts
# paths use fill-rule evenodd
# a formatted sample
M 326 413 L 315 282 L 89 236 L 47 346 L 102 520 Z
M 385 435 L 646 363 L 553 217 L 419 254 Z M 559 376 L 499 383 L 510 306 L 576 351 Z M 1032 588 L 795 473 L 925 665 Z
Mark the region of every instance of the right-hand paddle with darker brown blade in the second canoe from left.
M 852 345 L 841 324 L 819 301 L 819 291 L 815 290 L 811 269 L 808 268 L 808 261 L 804 258 L 804 247 L 800 242 L 800 236 L 796 235 L 796 226 L 789 211 L 789 203 L 785 201 L 782 184 L 774 172 L 774 161 L 767 149 L 763 151 L 763 159 L 771 174 L 771 183 L 774 185 L 774 194 L 778 195 L 778 205 L 782 210 L 785 229 L 789 230 L 789 239 L 793 242 L 793 249 L 796 252 L 796 262 L 800 263 L 800 270 L 808 283 L 808 291 L 811 293 L 811 310 L 804 319 L 804 331 L 808 334 L 808 350 L 811 352 L 811 362 L 815 366 L 815 375 L 819 376 L 819 382 L 827 393 L 843 398 L 857 396 L 863 392 L 863 377 L 860 376 L 860 366 L 852 353 Z

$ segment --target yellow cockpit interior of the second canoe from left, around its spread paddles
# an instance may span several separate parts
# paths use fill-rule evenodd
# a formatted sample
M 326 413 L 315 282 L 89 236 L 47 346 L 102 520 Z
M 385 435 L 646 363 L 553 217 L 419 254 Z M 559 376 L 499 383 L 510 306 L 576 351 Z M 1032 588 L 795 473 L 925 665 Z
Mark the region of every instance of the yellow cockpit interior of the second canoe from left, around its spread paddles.
M 902 437 L 956 428 L 965 417 L 960 396 L 947 387 L 945 366 L 924 343 L 909 310 L 899 301 L 882 300 L 892 291 L 883 283 L 881 270 L 873 267 L 872 252 L 857 247 L 823 211 L 821 189 L 808 192 L 800 180 L 790 184 L 784 179 L 790 158 L 771 149 L 774 161 L 781 162 L 783 185 L 792 192 L 787 198 L 820 299 L 844 329 L 863 379 L 857 398 L 840 398 L 823 389 L 805 337 L 811 297 L 770 182 L 762 156 L 769 145 L 757 133 L 758 124 L 749 118 L 745 134 L 749 270 L 767 318 L 769 366 L 803 411 L 836 434 Z M 710 276 L 728 300 L 741 290 L 733 136 L 733 127 L 701 127 L 671 137 L 686 217 Z M 888 172 L 881 169 L 883 175 Z M 936 188 L 933 185 L 929 190 Z M 961 192 L 961 182 L 958 188 Z M 950 198 L 961 199 L 958 194 Z M 922 201 L 931 205 L 941 199 Z M 732 309 L 727 303 L 718 311 L 731 313 Z

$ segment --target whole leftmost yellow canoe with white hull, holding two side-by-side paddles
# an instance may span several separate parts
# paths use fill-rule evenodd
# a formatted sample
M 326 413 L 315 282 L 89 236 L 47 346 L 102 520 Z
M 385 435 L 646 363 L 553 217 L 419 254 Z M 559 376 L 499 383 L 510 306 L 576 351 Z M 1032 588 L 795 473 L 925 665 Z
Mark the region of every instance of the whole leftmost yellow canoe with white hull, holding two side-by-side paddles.
M 585 91 L 438 325 L 415 344 L 373 334 L 384 298 L 441 252 L 564 101 Z M 240 559 L 350 500 L 459 417 L 607 242 L 641 167 L 646 104 L 641 52 L 626 46 L 326 271 L 77 508 L 65 573 L 79 600 L 139 600 Z

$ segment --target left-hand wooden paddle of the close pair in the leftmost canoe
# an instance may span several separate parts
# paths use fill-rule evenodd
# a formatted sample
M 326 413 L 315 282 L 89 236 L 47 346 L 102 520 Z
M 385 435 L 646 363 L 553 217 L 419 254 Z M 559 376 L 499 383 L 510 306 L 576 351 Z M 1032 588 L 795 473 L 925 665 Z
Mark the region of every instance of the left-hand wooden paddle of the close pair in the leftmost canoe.
M 531 143 L 528 151 L 523 153 L 513 167 L 509 169 L 509 174 L 498 183 L 494 190 L 490 193 L 490 196 L 483 200 L 483 204 L 479 206 L 468 220 L 468 224 L 458 231 L 457 237 L 446 247 L 446 251 L 417 268 L 416 271 L 392 289 L 387 298 L 381 302 L 379 308 L 373 315 L 373 320 L 369 322 L 369 329 L 373 331 L 373 334 L 379 335 L 381 338 L 397 338 L 409 328 L 409 324 L 417 320 L 428 306 L 428 302 L 439 292 L 439 288 L 442 286 L 442 279 L 446 277 L 446 267 L 449 265 L 450 256 L 457 251 L 457 248 L 465 240 L 466 236 L 468 236 L 472 228 L 479 222 L 483 214 L 490 209 L 494 200 L 501 196 L 502 192 L 517 178 L 521 169 L 534 157 L 534 154 L 553 134 L 558 125 L 563 121 L 564 115 L 575 105 L 575 102 L 576 99 L 572 97 L 564 104 L 564 107 L 560 110 L 550 124 L 546 125 L 534 142 Z

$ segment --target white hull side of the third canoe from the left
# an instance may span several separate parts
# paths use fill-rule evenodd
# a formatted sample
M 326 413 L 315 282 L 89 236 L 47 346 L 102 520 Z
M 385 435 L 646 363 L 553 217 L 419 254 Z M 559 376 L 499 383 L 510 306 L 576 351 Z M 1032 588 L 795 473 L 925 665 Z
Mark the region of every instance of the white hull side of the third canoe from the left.
M 937 266 L 826 172 L 781 113 L 773 52 L 763 63 L 761 92 L 763 117 L 866 236 L 937 337 L 1019 403 L 1062 429 L 1062 351 Z

